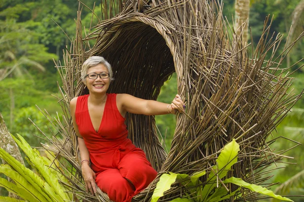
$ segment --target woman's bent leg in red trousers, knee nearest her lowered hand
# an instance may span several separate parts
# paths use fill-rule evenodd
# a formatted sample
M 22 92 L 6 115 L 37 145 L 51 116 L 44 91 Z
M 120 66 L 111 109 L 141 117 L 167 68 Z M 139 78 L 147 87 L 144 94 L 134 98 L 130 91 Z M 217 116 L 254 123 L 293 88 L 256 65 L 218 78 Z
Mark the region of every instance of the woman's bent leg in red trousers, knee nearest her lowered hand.
M 128 180 L 122 177 L 117 169 L 108 169 L 98 173 L 95 179 L 97 186 L 108 194 L 110 200 L 129 202 L 134 195 L 134 189 Z

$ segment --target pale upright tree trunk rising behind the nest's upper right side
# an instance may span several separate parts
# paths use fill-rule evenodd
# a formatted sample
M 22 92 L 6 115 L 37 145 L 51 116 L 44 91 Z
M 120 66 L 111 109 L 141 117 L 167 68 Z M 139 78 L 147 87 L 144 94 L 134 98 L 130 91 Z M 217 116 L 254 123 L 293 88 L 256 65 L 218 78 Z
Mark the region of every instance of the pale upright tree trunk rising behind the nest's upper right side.
M 237 35 L 241 35 L 242 43 L 248 41 L 248 27 L 249 27 L 249 11 L 250 0 L 236 0 L 235 2 L 235 31 Z

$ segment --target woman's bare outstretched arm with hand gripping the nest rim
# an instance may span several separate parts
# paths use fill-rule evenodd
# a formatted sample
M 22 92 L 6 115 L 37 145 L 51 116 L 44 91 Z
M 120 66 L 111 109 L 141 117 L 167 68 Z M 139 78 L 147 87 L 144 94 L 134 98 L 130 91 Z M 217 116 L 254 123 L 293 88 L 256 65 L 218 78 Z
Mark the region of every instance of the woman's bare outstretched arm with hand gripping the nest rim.
M 118 94 L 117 101 L 122 108 L 122 112 L 130 112 L 145 115 L 176 114 L 184 111 L 184 103 L 179 95 L 176 95 L 171 104 L 158 102 L 155 100 L 144 100 L 129 94 Z

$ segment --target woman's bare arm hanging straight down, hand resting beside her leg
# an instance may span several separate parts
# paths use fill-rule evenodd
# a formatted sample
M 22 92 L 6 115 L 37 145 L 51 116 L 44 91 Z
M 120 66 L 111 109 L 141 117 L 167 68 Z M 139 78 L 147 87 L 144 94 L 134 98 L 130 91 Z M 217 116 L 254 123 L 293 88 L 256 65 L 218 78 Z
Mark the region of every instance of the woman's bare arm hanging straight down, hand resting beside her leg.
M 85 179 L 85 185 L 86 185 L 87 191 L 90 190 L 90 192 L 92 194 L 95 194 L 96 193 L 96 187 L 95 187 L 96 176 L 95 176 L 94 171 L 90 167 L 90 154 L 89 154 L 88 148 L 85 144 L 83 137 L 79 133 L 78 125 L 76 123 L 76 119 L 75 119 L 76 103 L 77 103 L 77 97 L 73 98 L 70 101 L 70 112 L 71 112 L 71 116 L 72 116 L 72 120 L 73 120 L 74 130 L 76 132 L 77 139 L 78 139 L 78 146 L 79 146 L 80 156 L 81 156 L 81 160 L 82 160 L 82 165 L 81 165 L 82 174 Z M 83 161 L 83 160 L 85 160 L 85 161 Z M 86 160 L 88 160 L 88 161 L 86 161 Z

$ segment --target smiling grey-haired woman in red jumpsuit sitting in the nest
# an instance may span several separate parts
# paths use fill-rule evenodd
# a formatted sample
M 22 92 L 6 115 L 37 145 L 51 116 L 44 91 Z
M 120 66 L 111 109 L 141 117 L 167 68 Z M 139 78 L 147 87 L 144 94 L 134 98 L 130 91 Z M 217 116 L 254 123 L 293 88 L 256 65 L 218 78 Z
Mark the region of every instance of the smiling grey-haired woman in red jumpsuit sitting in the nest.
M 184 103 L 179 95 L 171 104 L 166 104 L 128 94 L 107 94 L 113 77 L 111 66 L 103 57 L 87 59 L 81 77 L 89 95 L 73 98 L 70 111 L 78 136 L 86 189 L 94 194 L 96 182 L 111 200 L 131 201 L 155 179 L 157 172 L 144 152 L 127 138 L 126 112 L 175 114 L 177 110 L 184 110 Z

